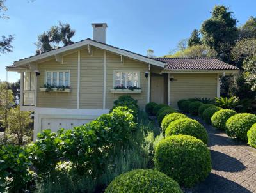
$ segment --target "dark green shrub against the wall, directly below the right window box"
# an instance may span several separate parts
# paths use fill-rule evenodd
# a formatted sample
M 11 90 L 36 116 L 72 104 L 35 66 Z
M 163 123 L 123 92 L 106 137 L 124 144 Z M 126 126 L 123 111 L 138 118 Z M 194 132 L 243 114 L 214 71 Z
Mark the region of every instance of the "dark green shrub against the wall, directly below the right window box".
M 128 107 L 129 109 L 132 109 L 132 111 L 134 111 L 133 114 L 135 117 L 138 116 L 138 112 L 140 110 L 140 107 L 138 106 L 138 101 L 134 100 L 131 96 L 129 95 L 120 96 L 117 100 L 114 101 L 113 108 L 110 110 L 110 112 L 112 112 L 113 109 L 115 109 L 115 107 L 118 107 L 118 106 Z

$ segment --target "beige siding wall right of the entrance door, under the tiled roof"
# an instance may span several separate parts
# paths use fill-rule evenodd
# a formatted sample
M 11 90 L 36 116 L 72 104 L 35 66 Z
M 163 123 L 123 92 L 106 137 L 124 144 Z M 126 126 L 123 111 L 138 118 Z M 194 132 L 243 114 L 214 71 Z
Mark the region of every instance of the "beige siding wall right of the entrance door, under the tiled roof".
M 180 99 L 217 96 L 216 73 L 173 73 L 170 82 L 170 105 L 177 108 Z

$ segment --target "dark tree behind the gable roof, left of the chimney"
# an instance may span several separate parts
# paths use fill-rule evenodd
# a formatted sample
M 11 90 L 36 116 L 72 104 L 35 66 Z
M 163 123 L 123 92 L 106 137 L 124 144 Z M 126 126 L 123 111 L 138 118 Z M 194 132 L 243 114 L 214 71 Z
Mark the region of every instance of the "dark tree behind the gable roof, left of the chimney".
M 35 43 L 37 50 L 36 53 L 40 54 L 59 47 L 59 43 L 68 45 L 73 43 L 71 38 L 74 36 L 75 31 L 71 29 L 70 24 L 63 24 L 59 22 L 58 26 L 52 26 L 47 32 L 38 36 L 38 41 Z

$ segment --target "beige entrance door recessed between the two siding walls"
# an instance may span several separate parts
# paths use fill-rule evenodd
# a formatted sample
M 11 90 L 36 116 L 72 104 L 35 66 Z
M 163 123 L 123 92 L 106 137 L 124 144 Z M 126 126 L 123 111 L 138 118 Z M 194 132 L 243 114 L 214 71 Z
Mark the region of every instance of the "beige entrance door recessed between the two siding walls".
M 161 104 L 165 102 L 164 97 L 164 76 L 163 75 L 152 75 L 151 79 L 151 90 L 150 90 L 150 101 Z

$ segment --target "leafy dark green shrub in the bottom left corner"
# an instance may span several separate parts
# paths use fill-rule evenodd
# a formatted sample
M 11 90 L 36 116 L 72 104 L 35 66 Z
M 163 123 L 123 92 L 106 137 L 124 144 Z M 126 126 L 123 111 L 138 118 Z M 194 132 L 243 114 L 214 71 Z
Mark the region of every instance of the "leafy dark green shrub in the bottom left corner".
M 0 192 L 26 192 L 32 176 L 26 151 L 20 146 L 0 147 Z

